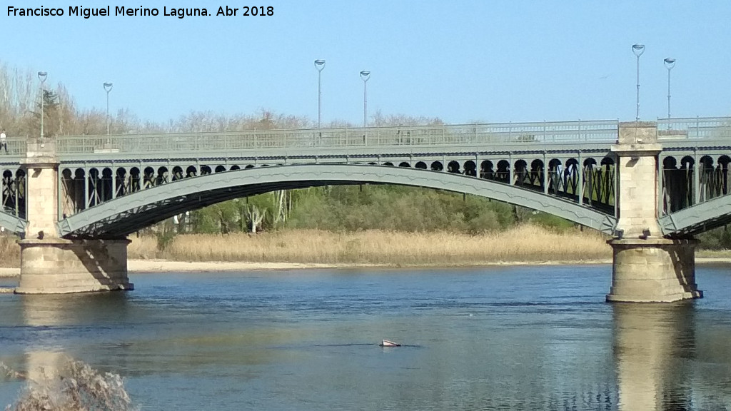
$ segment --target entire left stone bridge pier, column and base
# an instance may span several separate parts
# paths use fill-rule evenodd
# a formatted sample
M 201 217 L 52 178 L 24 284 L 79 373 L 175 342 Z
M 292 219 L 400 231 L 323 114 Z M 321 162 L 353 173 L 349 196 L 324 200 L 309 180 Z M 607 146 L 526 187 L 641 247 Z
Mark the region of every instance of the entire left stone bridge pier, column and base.
M 31 140 L 23 161 L 27 176 L 25 238 L 20 244 L 19 294 L 132 290 L 127 278 L 129 240 L 67 240 L 58 221 L 55 140 Z

